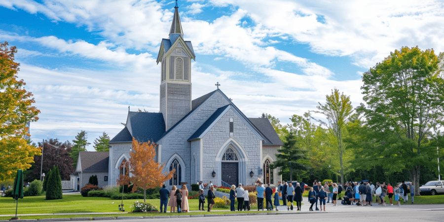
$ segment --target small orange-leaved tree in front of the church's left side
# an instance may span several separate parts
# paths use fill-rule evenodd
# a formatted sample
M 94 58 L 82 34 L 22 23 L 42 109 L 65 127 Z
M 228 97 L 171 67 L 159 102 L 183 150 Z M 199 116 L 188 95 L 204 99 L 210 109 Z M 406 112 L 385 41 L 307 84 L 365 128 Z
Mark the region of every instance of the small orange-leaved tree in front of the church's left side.
M 148 143 L 139 143 L 133 138 L 129 159 L 129 172 L 132 174 L 130 181 L 134 183 L 133 192 L 137 190 L 137 187 L 144 190 L 144 202 L 146 202 L 148 188 L 161 186 L 163 182 L 170 180 L 174 173 L 174 170 L 162 173 L 165 164 L 160 165 L 154 159 L 156 156 L 155 147 L 155 143 L 149 141 Z

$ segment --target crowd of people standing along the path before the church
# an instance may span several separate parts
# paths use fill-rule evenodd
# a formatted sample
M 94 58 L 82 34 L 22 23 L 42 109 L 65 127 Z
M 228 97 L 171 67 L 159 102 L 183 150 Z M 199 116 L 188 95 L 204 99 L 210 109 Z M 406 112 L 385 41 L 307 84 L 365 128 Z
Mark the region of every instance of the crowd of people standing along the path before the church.
M 211 184 L 211 182 L 210 182 Z M 287 206 L 287 210 L 294 209 L 294 202 L 296 202 L 296 211 L 301 211 L 301 202 L 303 200 L 302 194 L 305 191 L 304 183 L 291 183 L 282 181 L 273 189 L 270 184 L 265 187 L 260 180 L 256 183 L 257 191 L 257 203 L 258 211 L 264 210 L 263 201 L 265 199 L 265 208 L 267 210 L 278 210 L 277 206 L 280 206 L 280 200 L 283 205 Z M 414 202 L 414 185 L 407 184 L 403 181 L 400 185 L 392 186 L 385 182 L 380 184 L 376 182 L 373 185 L 372 182 L 347 182 L 344 186 L 337 185 L 336 183 L 326 182 L 324 185 L 321 182 L 315 180 L 313 186 L 310 187 L 308 192 L 308 202 L 310 203 L 309 211 L 326 211 L 326 203 L 332 203 L 336 206 L 337 199 L 344 205 L 357 205 L 357 206 L 372 206 L 372 204 L 378 203 L 379 205 L 386 206 L 384 197 L 388 196 L 390 204 L 393 205 L 393 201 L 397 201 L 397 205 L 401 204 L 401 198 L 406 203 L 408 201 L 408 193 L 410 193 L 410 200 Z M 345 191 L 343 197 L 341 197 L 342 191 Z M 408 192 L 409 191 L 409 192 Z M 171 191 L 165 188 L 165 185 L 160 189 L 160 211 L 166 213 L 167 205 L 170 206 L 170 212 L 188 212 L 188 190 L 186 185 L 182 186 L 182 189 L 177 189 L 173 186 Z M 272 196 L 274 193 L 274 201 Z M 207 198 L 204 195 L 204 187 L 202 182 L 199 183 L 199 211 L 204 211 L 205 201 L 208 202 L 207 211 L 210 212 L 213 208 L 215 201 L 214 186 L 211 184 L 207 193 Z M 169 202 L 168 202 L 169 198 Z M 235 201 L 237 200 L 237 210 L 250 210 L 249 192 L 244 189 L 242 184 L 237 187 L 231 185 L 229 200 L 230 211 L 235 211 Z M 319 208 L 318 208 L 319 203 Z M 273 207 L 274 204 L 274 207 Z M 313 206 L 315 210 L 313 210 Z

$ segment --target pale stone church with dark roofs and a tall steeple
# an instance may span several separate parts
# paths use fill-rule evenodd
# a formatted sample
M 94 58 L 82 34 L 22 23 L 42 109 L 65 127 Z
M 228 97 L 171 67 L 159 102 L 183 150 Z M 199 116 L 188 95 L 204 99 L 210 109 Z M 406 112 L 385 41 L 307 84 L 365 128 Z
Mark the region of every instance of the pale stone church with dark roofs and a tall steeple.
M 108 185 L 115 185 L 122 162 L 130 157 L 132 138 L 151 141 L 164 172 L 175 169 L 165 185 L 252 185 L 258 178 L 277 185 L 269 164 L 282 146 L 267 118 L 248 118 L 218 88 L 191 99 L 191 41 L 184 40 L 178 7 L 169 38 L 161 40 L 160 111 L 128 111 L 125 127 L 110 141 Z M 258 116 L 261 113 L 258 113 Z

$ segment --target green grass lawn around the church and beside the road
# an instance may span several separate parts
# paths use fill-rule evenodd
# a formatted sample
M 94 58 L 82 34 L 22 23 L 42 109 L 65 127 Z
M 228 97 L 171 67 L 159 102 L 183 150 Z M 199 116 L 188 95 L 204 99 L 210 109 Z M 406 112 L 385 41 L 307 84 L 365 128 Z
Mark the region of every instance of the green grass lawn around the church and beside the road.
M 125 204 L 125 209 L 130 211 L 130 206 L 137 200 L 123 200 Z M 139 200 L 139 201 L 143 201 Z M 388 197 L 385 197 L 386 203 L 390 203 Z M 12 215 L 15 214 L 15 203 L 14 199 L 10 197 L 0 198 L 0 220 L 9 220 L 10 216 L 1 215 Z M 112 203 L 114 202 L 114 203 Z M 157 206 L 159 209 L 160 201 L 158 199 L 148 199 L 148 203 Z M 281 205 L 282 205 L 282 201 Z M 306 202 L 306 198 L 304 198 Z M 121 200 L 111 200 L 107 197 L 82 197 L 80 194 L 74 195 L 64 195 L 63 199 L 60 200 L 45 200 L 45 196 L 34 196 L 25 197 L 19 199 L 18 201 L 18 214 L 56 214 L 56 213 L 118 213 L 118 205 Z M 197 199 L 188 200 L 190 210 L 194 211 L 198 209 L 199 201 Z M 393 200 L 396 204 L 397 201 Z M 443 196 L 415 196 L 415 204 L 442 204 Z M 339 203 L 340 204 L 340 203 Z M 401 204 L 410 205 L 410 198 L 407 203 L 401 201 Z M 205 209 L 207 209 L 207 204 L 205 204 Z M 256 205 L 251 205 L 251 210 L 257 210 Z M 169 208 L 168 208 L 169 210 Z M 227 208 L 213 208 L 213 210 L 229 210 L 229 205 Z M 232 214 L 232 213 L 243 213 L 243 212 L 189 212 L 187 215 L 198 215 L 198 214 Z M 159 216 L 159 213 L 130 213 L 130 214 L 95 214 L 95 215 L 37 215 L 37 216 L 20 216 L 21 219 L 44 219 L 44 218 L 73 218 L 73 217 L 150 217 Z M 172 213 L 168 215 L 180 215 L 178 213 Z

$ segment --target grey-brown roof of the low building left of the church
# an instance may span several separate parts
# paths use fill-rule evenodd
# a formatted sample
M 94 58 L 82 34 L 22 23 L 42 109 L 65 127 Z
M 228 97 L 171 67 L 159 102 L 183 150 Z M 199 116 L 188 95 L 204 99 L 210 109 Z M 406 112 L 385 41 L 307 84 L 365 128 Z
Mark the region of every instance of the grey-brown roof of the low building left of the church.
M 108 172 L 110 152 L 89 152 L 80 151 L 78 153 L 82 172 Z

